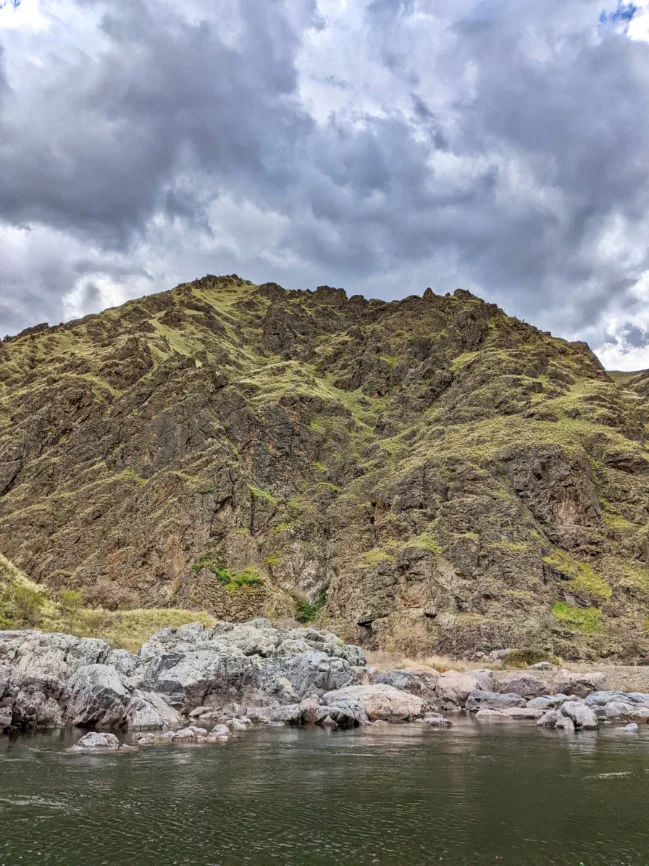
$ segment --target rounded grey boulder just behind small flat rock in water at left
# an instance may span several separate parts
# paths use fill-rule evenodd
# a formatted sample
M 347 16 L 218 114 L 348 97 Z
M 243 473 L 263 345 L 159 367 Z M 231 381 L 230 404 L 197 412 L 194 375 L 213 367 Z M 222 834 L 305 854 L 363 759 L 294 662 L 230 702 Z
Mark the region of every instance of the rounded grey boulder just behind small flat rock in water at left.
M 85 665 L 78 668 L 63 690 L 64 719 L 79 727 L 117 727 L 123 721 L 129 697 L 114 667 Z

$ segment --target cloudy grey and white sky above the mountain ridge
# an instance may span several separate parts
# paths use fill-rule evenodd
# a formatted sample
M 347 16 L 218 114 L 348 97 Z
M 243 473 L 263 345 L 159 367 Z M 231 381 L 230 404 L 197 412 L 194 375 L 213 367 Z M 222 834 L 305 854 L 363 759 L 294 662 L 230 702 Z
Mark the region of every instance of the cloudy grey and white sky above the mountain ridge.
M 0 334 L 236 272 L 649 367 L 649 0 L 0 7 Z

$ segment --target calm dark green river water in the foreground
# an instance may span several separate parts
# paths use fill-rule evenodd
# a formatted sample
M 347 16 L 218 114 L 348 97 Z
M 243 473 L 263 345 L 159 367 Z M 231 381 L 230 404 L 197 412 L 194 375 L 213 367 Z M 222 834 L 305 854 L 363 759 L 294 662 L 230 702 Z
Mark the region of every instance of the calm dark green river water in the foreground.
M 0 864 L 645 866 L 646 728 L 284 728 L 101 756 L 4 738 Z

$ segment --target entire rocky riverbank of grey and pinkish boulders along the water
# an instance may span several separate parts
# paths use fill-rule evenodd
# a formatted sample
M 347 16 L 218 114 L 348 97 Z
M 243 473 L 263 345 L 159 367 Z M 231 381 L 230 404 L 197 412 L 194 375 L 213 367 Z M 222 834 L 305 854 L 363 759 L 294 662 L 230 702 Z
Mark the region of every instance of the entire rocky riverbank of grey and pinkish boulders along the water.
M 116 729 L 140 732 L 141 745 L 218 742 L 259 724 L 444 728 L 458 712 L 561 731 L 626 722 L 631 732 L 649 721 L 649 694 L 607 690 L 601 673 L 377 671 L 330 632 L 265 619 L 162 629 L 136 653 L 0 632 L 0 731 L 90 730 L 76 750 L 118 748 Z

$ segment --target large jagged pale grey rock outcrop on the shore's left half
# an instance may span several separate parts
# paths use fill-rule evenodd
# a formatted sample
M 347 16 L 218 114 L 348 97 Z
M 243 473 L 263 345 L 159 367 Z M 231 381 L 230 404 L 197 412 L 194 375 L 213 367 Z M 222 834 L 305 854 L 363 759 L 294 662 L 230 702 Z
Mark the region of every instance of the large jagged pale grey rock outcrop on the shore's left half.
M 198 709 L 199 719 L 212 713 L 225 720 L 224 709 L 236 701 L 268 708 L 271 720 L 276 711 L 277 721 L 292 721 L 291 705 L 356 682 L 350 659 L 365 661 L 358 647 L 329 632 L 283 629 L 264 619 L 163 629 L 134 654 L 69 635 L 0 632 L 2 718 L 4 727 L 18 729 L 179 728 Z M 358 708 L 356 716 L 362 720 Z

